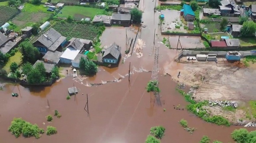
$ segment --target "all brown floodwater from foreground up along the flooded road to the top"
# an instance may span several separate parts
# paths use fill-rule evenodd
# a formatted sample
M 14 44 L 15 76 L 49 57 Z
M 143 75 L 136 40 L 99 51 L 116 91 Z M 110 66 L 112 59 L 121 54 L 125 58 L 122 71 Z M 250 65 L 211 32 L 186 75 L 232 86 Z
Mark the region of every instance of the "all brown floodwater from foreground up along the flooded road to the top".
M 154 29 L 159 28 L 158 15 L 154 14 L 152 1 L 145 1 L 140 7 L 143 7 L 143 21 L 147 25 L 138 35 L 146 44 L 142 57 L 137 57 L 133 53 L 124 63 L 121 62 L 118 68 L 100 67 L 100 71 L 93 78 L 73 79 L 72 76 L 67 76 L 53 86 L 43 88 L 4 86 L 3 91 L 0 91 L 0 143 L 143 143 L 150 134 L 149 129 L 156 125 L 166 128 L 162 143 L 198 143 L 202 136 L 209 136 L 212 141 L 218 139 L 223 143 L 233 143 L 230 133 L 234 129 L 239 129 L 239 126 L 227 128 L 209 124 L 186 110 L 173 109 L 173 105 L 187 105 L 184 98 L 175 90 L 176 83 L 170 76 L 164 76 L 165 73 L 170 73 L 180 66 L 173 61 L 178 51 L 169 50 L 160 43 L 160 36 L 156 36 L 155 45 L 159 46 L 159 54 L 162 55 L 159 57 L 158 77 L 162 107 L 154 104 L 153 94 L 147 93 L 145 87 L 151 80 L 151 72 L 147 71 L 152 70 L 154 57 L 148 54 L 152 53 L 151 47 L 154 45 Z M 154 18 L 148 18 L 152 14 L 155 15 L 155 21 Z M 109 32 L 113 34 L 125 33 L 125 29 L 111 29 Z M 134 33 L 130 31 L 128 34 L 132 36 Z M 102 46 L 113 42 L 125 46 L 122 40 L 125 39 L 125 35 L 120 34 L 117 37 L 104 39 L 103 33 Z M 129 62 L 132 69 L 130 82 L 127 77 Z M 88 83 L 105 83 L 120 77 L 123 78 L 120 82 L 88 87 Z M 73 84 L 79 89 L 79 93 L 72 96 L 71 100 L 66 100 L 67 89 L 73 87 Z M 12 92 L 19 93 L 19 97 L 11 97 Z M 86 94 L 89 100 L 89 115 L 84 110 Z M 50 108 L 47 107 L 47 100 Z M 165 112 L 163 108 L 166 109 Z M 54 110 L 58 110 L 62 117 L 54 117 L 53 122 L 48 123 L 45 116 L 54 114 Z M 52 136 L 44 134 L 40 139 L 22 136 L 15 139 L 7 130 L 15 117 L 21 117 L 32 124 L 36 123 L 43 129 L 46 129 L 47 125 L 52 125 L 58 133 Z M 189 127 L 196 128 L 192 135 L 178 123 L 182 118 L 188 121 Z

